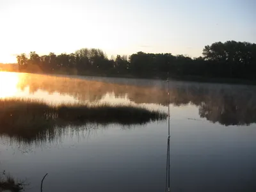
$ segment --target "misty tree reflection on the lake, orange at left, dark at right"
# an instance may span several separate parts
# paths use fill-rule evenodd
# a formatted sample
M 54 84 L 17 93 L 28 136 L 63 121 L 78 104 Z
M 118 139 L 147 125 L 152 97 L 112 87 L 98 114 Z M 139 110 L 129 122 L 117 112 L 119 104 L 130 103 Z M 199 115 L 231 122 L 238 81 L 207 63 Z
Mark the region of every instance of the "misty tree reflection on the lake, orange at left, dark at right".
M 25 74 L 19 88 L 30 93 L 58 92 L 80 101 L 97 102 L 108 93 L 126 97 L 136 104 L 167 104 L 166 82 L 142 79 L 71 78 Z M 256 87 L 227 84 L 170 82 L 170 103 L 198 106 L 202 118 L 223 125 L 250 125 L 256 122 Z

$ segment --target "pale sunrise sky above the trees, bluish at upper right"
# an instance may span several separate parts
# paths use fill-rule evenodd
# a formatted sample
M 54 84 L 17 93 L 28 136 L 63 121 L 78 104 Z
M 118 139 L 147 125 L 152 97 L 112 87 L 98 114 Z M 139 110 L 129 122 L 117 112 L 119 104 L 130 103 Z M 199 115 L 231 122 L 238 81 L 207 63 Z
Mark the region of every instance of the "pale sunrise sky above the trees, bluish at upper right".
M 205 45 L 256 43 L 255 0 L 0 0 L 0 63 L 17 54 L 102 49 L 202 55 Z

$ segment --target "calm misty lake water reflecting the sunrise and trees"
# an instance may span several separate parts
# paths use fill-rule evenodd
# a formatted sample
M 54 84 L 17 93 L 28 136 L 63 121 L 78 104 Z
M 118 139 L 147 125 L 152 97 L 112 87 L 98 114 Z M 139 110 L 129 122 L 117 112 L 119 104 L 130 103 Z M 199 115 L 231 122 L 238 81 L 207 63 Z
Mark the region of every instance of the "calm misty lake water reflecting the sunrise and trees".
M 134 104 L 167 111 L 166 81 L 0 72 L 0 98 Z M 171 191 L 256 191 L 256 86 L 170 81 Z M 127 116 L 129 118 L 129 116 Z M 1 129 L 1 127 L 0 127 Z M 164 191 L 168 121 L 0 136 L 0 171 L 27 191 Z

